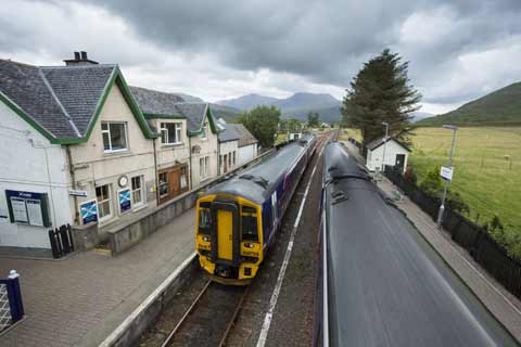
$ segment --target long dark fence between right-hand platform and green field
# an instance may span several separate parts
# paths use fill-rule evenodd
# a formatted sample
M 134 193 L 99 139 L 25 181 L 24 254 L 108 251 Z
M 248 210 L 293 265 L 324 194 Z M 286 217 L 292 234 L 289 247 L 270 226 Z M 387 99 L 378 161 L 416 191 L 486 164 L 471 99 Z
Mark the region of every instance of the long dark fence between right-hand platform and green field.
M 428 195 L 392 167 L 385 168 L 385 176 L 433 220 L 436 220 L 440 200 Z M 470 253 L 475 262 L 521 299 L 521 261 L 519 259 L 510 256 L 485 229 L 450 208 L 445 208 L 442 224 L 450 233 L 452 239 Z

